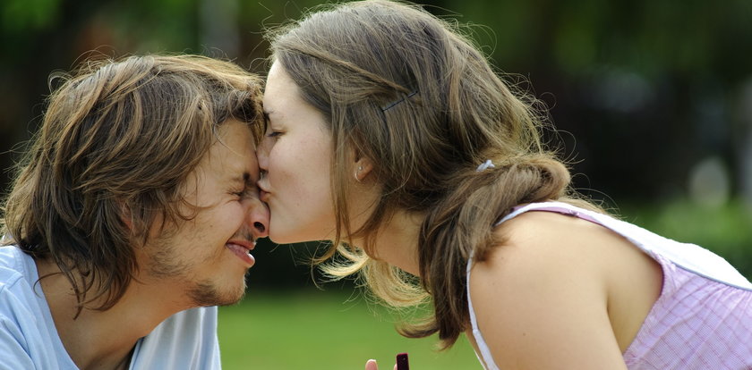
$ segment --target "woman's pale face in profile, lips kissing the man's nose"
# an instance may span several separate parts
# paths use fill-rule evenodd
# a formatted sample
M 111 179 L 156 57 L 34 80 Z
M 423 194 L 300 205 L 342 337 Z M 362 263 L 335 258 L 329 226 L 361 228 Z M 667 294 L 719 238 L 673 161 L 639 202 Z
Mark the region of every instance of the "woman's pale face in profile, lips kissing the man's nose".
M 257 151 L 264 172 L 258 184 L 261 200 L 269 205 L 269 239 L 332 239 L 332 148 L 324 116 L 303 101 L 280 63 L 269 70 L 264 111 L 269 128 Z

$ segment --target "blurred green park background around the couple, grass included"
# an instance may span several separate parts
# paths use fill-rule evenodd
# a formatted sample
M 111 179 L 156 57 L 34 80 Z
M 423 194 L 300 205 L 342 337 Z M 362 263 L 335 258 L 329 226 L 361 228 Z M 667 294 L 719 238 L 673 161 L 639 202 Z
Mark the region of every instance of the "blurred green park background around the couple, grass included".
M 267 68 L 264 28 L 320 1 L 3 0 L 0 185 L 44 112 L 52 71 L 91 55 L 199 53 Z M 500 71 L 551 107 L 580 191 L 622 218 L 710 248 L 752 277 L 752 2 L 445 0 Z M 317 288 L 318 246 L 256 249 L 244 303 L 220 310 L 228 369 L 480 368 L 465 341 L 435 352 L 353 293 Z M 323 290 L 323 291 L 321 291 Z

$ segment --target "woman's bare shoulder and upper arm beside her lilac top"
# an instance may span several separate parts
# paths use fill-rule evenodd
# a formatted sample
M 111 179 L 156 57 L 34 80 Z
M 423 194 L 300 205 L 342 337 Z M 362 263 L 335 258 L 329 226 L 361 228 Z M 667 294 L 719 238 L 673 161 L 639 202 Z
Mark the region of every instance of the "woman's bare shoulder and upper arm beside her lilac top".
M 620 290 L 650 258 L 601 225 L 563 214 L 520 214 L 496 232 L 505 243 L 474 264 L 470 293 L 497 365 L 623 367 L 621 352 L 644 315 L 613 306 L 644 292 Z M 652 302 L 637 311 L 646 315 Z

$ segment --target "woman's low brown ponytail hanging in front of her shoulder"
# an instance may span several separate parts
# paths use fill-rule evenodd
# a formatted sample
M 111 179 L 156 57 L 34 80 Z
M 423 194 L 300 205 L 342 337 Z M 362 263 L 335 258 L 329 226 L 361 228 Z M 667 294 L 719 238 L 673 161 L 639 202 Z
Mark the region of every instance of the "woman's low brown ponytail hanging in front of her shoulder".
M 451 191 L 427 214 L 419 241 L 423 288 L 432 295 L 434 320 L 402 329 L 409 337 L 439 332 L 448 348 L 469 323 L 466 267 L 470 256 L 483 260 L 494 246 L 493 226 L 513 207 L 558 199 L 569 183 L 568 169 L 548 155 L 493 161 L 482 171 L 458 173 Z

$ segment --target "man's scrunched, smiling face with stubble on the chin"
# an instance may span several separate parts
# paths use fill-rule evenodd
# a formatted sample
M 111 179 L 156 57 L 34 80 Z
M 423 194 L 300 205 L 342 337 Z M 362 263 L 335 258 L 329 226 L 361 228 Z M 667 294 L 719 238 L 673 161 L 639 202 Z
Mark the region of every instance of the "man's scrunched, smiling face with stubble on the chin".
M 150 277 L 183 291 L 191 306 L 242 299 L 245 273 L 254 263 L 248 252 L 269 230 L 269 210 L 255 185 L 259 166 L 251 130 L 230 120 L 218 138 L 183 187 L 191 205 L 184 214 L 194 217 L 160 232 L 153 227 L 158 235 L 144 249 Z

